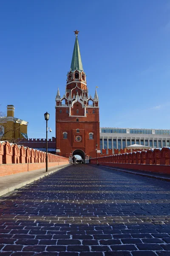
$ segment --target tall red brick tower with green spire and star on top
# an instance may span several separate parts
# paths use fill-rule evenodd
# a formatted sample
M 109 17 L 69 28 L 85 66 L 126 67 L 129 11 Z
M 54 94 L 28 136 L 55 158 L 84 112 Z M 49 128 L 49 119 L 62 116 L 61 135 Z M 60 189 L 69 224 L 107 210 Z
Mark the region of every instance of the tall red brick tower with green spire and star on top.
M 71 69 L 67 74 L 65 95 L 61 98 L 59 88 L 56 96 L 56 154 L 63 157 L 80 155 L 85 162 L 89 157 L 100 156 L 99 99 L 88 95 L 86 75 L 82 68 L 78 31 L 74 31 Z

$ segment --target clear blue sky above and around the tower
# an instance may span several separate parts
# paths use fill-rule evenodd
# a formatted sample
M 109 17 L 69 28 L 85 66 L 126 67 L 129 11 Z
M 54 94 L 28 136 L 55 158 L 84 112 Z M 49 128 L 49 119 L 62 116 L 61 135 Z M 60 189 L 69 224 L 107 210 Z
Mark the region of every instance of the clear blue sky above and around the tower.
M 28 137 L 55 137 L 55 96 L 65 93 L 74 30 L 100 127 L 170 129 L 169 0 L 3 0 L 0 109 L 15 106 Z

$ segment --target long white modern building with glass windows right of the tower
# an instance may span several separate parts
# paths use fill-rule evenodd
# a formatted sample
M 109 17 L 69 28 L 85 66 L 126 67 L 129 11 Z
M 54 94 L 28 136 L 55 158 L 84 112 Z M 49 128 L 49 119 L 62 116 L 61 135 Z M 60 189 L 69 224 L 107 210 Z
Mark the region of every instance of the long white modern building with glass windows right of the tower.
M 153 148 L 170 147 L 170 130 L 139 128 L 100 128 L 100 149 L 123 149 L 139 144 Z

